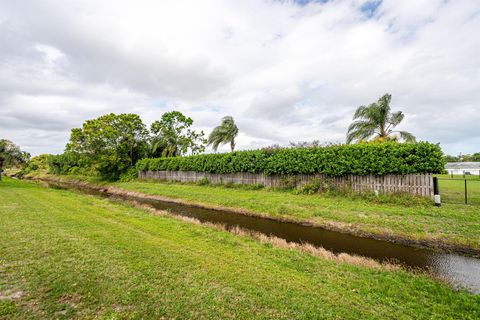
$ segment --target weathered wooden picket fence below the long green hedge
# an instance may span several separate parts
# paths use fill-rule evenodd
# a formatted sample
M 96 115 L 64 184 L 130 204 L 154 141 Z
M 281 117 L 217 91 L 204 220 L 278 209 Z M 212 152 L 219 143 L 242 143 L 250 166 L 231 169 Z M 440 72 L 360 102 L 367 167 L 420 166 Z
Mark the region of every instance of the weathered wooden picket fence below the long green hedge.
M 410 193 L 423 197 L 433 197 L 433 178 L 431 174 L 395 175 L 345 175 L 332 177 L 316 175 L 264 175 L 261 173 L 205 173 L 194 171 L 141 171 L 141 179 L 157 179 L 180 182 L 198 182 L 207 178 L 213 184 L 259 184 L 265 187 L 301 187 L 314 179 L 320 182 L 321 188 L 335 188 L 356 192 Z

